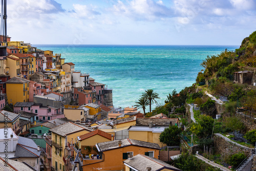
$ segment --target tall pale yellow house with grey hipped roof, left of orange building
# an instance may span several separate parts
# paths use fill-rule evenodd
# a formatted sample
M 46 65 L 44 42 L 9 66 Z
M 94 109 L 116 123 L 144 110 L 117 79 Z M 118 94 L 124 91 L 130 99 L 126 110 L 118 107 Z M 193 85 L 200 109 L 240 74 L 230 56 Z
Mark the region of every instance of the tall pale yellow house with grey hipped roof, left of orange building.
M 72 155 L 69 144 L 74 144 L 75 139 L 92 130 L 86 126 L 68 122 L 49 130 L 52 132 L 52 167 L 55 170 L 67 170 L 67 165 L 63 159 L 68 160 Z

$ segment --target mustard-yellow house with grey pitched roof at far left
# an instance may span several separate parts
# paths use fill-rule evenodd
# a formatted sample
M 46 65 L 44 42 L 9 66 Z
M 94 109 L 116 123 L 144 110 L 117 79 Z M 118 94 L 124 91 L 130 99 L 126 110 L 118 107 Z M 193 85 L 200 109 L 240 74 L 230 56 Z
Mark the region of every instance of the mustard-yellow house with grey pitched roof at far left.
M 12 77 L 6 81 L 6 94 L 8 103 L 13 105 L 16 102 L 28 102 L 29 101 L 29 80 Z

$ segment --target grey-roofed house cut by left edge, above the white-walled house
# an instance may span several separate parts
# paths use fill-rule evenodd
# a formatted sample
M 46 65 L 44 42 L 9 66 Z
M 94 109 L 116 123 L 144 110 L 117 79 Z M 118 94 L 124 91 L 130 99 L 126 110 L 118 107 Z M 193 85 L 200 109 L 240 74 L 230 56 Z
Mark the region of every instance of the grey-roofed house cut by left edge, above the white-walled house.
M 9 111 L 0 111 L 0 129 L 6 128 L 6 125 L 10 127 L 15 134 L 19 134 L 19 114 L 9 112 Z M 7 124 L 6 124 L 7 121 Z

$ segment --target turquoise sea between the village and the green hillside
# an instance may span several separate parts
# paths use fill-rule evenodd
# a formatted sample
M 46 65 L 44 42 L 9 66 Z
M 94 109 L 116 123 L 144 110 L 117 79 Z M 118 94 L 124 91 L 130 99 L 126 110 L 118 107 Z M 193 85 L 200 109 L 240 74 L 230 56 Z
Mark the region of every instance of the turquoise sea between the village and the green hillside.
M 60 53 L 75 70 L 89 73 L 96 82 L 113 89 L 115 107 L 135 105 L 141 94 L 154 89 L 159 104 L 174 89 L 191 86 L 207 55 L 239 46 L 136 46 L 136 45 L 34 45 Z M 154 108 L 155 105 L 153 105 Z M 147 109 L 148 111 L 149 109 Z

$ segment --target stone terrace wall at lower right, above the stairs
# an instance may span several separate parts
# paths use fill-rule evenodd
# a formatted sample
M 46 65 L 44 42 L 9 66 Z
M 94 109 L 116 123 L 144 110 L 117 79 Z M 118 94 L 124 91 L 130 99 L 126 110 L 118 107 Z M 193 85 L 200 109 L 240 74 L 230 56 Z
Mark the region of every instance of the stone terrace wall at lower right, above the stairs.
M 244 153 L 246 156 L 251 154 L 254 151 L 254 148 L 248 148 L 243 145 L 237 145 L 231 142 L 226 141 L 224 138 L 215 135 L 214 136 L 214 147 L 215 151 L 218 154 L 221 154 L 225 159 L 229 155 Z

